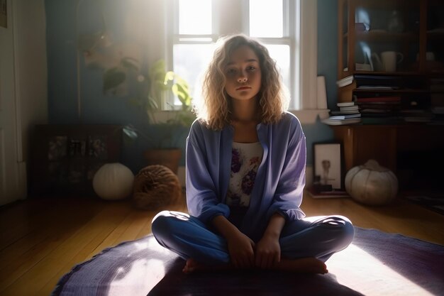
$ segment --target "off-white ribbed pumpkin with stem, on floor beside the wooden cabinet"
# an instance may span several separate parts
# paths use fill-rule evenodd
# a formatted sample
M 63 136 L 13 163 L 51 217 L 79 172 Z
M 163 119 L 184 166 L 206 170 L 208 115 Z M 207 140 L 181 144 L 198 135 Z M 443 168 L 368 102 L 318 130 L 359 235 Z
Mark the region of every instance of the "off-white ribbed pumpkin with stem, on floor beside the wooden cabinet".
M 398 179 L 376 160 L 368 160 L 365 165 L 356 166 L 347 172 L 345 190 L 362 204 L 388 204 L 398 193 Z

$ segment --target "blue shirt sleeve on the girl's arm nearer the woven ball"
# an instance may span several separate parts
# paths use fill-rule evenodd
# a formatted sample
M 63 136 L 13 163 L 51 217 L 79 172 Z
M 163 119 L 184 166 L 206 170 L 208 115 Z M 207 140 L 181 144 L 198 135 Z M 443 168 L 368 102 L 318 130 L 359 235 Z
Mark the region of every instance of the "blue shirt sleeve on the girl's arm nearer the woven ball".
M 228 217 L 230 209 L 218 196 L 217 176 L 211 175 L 210 160 L 219 158 L 220 151 L 212 147 L 203 127 L 194 122 L 187 138 L 186 185 L 189 214 L 208 224 L 215 216 Z

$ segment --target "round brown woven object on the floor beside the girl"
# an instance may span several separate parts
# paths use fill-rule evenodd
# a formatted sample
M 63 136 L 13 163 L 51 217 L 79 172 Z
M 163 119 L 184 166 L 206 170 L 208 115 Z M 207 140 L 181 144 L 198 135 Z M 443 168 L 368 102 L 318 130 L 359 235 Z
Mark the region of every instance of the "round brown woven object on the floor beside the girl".
M 159 209 L 181 198 L 179 178 L 165 165 L 148 165 L 135 175 L 133 202 L 138 209 Z

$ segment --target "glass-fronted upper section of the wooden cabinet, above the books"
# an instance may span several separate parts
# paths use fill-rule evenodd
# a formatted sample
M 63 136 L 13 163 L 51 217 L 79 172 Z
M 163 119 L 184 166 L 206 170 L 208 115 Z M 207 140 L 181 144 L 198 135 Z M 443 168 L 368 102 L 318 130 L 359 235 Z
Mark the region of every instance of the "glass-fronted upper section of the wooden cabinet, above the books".
M 442 0 L 340 0 L 338 79 L 443 74 L 443 20 Z

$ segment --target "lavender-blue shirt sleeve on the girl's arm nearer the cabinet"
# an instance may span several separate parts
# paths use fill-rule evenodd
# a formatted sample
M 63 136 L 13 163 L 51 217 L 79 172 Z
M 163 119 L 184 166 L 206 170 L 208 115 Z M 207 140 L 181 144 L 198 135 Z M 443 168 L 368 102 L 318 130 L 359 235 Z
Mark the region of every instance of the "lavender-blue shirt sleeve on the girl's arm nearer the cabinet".
M 284 155 L 273 201 L 267 210 L 267 219 L 275 212 L 282 214 L 287 220 L 301 219 L 305 216 L 300 206 L 305 186 L 306 139 L 297 119 L 292 121 Z

